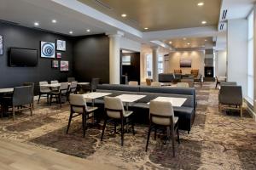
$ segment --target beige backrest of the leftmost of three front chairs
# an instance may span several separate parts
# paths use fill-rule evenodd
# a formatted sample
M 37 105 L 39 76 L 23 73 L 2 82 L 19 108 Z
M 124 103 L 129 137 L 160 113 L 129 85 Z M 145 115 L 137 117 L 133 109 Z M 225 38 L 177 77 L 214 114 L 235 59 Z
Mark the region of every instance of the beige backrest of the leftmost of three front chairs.
M 84 110 L 87 111 L 86 100 L 83 94 L 70 94 L 69 102 L 72 111 L 77 113 L 83 113 Z

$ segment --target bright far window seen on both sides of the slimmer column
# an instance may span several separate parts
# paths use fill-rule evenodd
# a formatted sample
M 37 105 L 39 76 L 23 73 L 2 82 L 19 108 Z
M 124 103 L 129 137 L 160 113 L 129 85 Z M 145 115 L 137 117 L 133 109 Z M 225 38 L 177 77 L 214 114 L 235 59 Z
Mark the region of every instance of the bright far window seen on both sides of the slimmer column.
M 147 69 L 146 69 L 146 75 L 147 77 L 152 77 L 152 54 L 146 54 L 146 60 L 147 60 Z M 164 56 L 162 54 L 158 55 L 158 72 L 163 73 L 164 72 Z

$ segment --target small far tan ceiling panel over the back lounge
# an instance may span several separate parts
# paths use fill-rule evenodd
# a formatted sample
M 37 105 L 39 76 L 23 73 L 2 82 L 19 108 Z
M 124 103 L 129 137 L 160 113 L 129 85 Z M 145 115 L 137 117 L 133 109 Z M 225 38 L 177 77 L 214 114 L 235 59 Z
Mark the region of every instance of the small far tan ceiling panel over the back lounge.
M 213 45 L 212 37 L 183 37 L 165 41 L 172 48 L 204 48 Z

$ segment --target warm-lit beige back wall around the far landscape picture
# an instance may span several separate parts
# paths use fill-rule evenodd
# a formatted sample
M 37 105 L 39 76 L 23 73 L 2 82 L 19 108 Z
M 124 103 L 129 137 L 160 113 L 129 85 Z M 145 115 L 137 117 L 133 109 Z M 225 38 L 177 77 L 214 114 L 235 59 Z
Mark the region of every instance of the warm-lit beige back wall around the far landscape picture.
M 172 52 L 169 54 L 169 72 L 181 69 L 184 74 L 190 74 L 191 69 L 199 69 L 204 75 L 204 51 Z M 180 68 L 180 59 L 192 59 L 191 68 Z

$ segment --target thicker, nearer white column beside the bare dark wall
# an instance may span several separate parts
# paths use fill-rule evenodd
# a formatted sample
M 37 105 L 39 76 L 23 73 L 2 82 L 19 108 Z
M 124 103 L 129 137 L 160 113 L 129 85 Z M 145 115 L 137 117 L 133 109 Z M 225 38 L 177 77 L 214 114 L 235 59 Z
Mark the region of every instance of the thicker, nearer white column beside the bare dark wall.
M 109 83 L 120 83 L 120 38 L 123 34 L 109 34 Z

